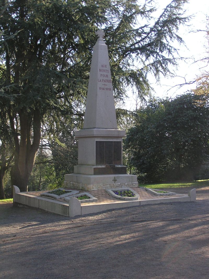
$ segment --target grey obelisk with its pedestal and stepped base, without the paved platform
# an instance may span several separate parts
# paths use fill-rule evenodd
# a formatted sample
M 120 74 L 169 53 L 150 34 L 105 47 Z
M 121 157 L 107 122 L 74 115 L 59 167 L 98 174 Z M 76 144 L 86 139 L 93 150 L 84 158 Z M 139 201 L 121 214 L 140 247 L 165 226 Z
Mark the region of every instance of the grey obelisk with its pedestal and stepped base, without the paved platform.
M 96 32 L 87 92 L 84 126 L 78 138 L 78 165 L 66 174 L 64 186 L 82 190 L 137 187 L 137 176 L 126 174 L 122 138 L 117 128 L 110 62 L 103 30 Z

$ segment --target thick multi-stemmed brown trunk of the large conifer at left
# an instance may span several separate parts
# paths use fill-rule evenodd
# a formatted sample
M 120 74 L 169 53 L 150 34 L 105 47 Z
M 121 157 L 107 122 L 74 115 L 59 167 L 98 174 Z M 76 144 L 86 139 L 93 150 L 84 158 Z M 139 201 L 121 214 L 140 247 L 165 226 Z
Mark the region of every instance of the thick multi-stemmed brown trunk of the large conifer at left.
M 29 113 L 21 110 L 18 115 L 20 118 L 20 142 L 15 141 L 15 163 L 10 172 L 11 185 L 19 187 L 21 192 L 26 192 L 41 140 L 41 114 L 39 110 Z M 31 134 L 33 134 L 33 141 Z

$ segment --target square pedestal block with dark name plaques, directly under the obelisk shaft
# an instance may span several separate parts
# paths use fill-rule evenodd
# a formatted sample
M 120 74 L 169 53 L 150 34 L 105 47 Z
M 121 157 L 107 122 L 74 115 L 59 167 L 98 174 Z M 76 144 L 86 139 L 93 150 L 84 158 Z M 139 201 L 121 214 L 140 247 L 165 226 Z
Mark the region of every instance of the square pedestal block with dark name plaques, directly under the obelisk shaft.
M 79 164 L 74 167 L 75 173 L 90 175 L 120 174 L 122 171 L 126 173 L 126 169 L 122 169 L 125 168 L 122 165 L 122 138 L 125 131 L 94 128 L 82 129 L 75 135 L 78 138 L 79 150 Z

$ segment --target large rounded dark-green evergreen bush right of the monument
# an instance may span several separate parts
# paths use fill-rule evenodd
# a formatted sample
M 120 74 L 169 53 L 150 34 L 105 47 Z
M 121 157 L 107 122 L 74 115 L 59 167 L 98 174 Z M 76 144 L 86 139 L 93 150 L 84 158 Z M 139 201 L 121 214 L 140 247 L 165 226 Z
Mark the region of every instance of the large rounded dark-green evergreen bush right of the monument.
M 209 155 L 209 108 L 193 93 L 152 100 L 137 111 L 125 147 L 147 182 L 196 178 Z

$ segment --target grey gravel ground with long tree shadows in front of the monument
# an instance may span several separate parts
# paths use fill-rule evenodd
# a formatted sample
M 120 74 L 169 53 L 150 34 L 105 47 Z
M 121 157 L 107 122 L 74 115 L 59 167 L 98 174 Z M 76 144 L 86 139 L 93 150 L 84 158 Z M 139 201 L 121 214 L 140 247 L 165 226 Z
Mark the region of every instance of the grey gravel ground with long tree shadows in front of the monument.
M 0 278 L 208 279 L 208 221 L 209 187 L 79 218 L 0 204 Z

